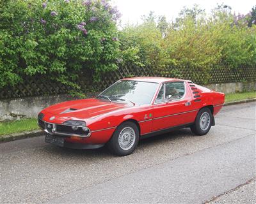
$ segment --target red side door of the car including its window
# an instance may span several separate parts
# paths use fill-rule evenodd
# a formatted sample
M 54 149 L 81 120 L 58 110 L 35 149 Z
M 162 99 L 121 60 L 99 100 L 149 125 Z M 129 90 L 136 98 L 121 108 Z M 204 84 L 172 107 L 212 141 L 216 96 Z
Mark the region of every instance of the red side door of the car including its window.
M 162 84 L 153 105 L 152 131 L 193 122 L 196 111 L 191 106 L 192 97 L 186 82 L 175 81 Z

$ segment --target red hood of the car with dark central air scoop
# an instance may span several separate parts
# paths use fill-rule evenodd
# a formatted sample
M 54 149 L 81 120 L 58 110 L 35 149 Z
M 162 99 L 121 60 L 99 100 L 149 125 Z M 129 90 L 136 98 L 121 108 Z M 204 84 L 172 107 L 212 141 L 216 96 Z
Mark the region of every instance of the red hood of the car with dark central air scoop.
M 128 107 L 126 103 L 111 103 L 101 99 L 79 99 L 49 106 L 44 112 L 61 118 L 93 119 L 104 113 Z

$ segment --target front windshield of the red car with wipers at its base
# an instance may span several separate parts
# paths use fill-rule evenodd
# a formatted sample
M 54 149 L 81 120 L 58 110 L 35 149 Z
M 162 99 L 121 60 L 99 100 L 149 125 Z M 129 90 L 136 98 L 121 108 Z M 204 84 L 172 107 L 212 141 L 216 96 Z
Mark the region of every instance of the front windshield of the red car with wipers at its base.
M 98 97 L 111 101 L 129 101 L 136 104 L 150 104 L 158 84 L 121 80 L 108 87 Z

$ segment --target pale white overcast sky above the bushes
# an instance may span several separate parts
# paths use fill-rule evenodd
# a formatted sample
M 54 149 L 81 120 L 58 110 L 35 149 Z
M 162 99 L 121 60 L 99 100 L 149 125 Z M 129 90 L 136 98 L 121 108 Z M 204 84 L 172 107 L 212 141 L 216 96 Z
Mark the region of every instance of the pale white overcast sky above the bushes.
M 165 15 L 168 21 L 174 20 L 183 6 L 191 7 L 198 4 L 209 13 L 217 4 L 227 4 L 232 11 L 246 14 L 256 2 L 253 0 L 112 0 L 113 5 L 122 13 L 122 25 L 141 22 L 141 15 L 154 11 L 156 15 Z

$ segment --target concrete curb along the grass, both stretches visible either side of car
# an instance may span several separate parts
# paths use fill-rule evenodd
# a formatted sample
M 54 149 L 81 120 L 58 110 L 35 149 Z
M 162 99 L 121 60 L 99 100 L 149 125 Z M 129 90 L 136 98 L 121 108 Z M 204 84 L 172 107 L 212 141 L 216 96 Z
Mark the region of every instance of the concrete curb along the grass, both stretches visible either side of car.
M 232 102 L 228 102 L 225 103 L 224 106 L 229 106 L 229 105 L 236 105 L 239 103 L 249 103 L 249 102 L 253 102 L 256 101 L 256 98 L 252 98 L 252 99 L 245 99 L 245 100 L 241 100 L 241 101 L 232 101 Z M 10 142 L 13 140 L 20 140 L 23 138 L 30 138 L 30 137 L 34 137 L 34 136 L 40 136 L 44 133 L 44 131 L 37 129 L 34 131 L 26 131 L 26 132 L 22 132 L 22 133 L 13 133 L 11 135 L 2 135 L 0 136 L 0 143 L 2 142 Z

